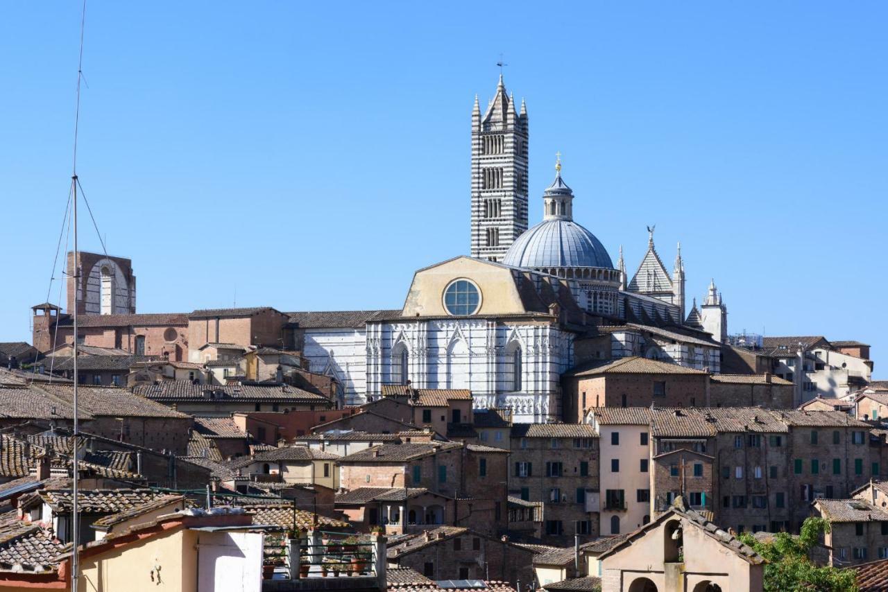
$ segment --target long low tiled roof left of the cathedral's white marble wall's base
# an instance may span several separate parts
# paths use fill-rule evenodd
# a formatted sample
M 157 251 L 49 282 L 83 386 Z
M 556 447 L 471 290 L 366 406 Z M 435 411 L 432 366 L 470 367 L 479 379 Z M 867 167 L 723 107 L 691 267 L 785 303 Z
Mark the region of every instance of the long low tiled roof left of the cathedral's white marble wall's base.
M 329 399 L 313 392 L 297 389 L 289 384 L 237 384 L 210 385 L 194 384 L 188 380 L 166 381 L 159 384 L 141 384 L 132 390 L 147 399 L 174 403 L 176 401 L 234 400 L 234 401 L 279 401 L 283 403 L 329 404 Z M 210 399 L 204 392 L 214 393 Z

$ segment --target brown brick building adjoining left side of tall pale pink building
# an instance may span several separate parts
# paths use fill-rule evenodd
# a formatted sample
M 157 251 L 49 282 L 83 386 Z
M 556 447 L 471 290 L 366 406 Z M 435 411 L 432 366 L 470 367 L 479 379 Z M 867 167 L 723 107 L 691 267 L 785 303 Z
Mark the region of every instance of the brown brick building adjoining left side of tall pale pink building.
M 509 494 L 543 502 L 543 539 L 599 535 L 599 438 L 583 423 L 511 427 Z

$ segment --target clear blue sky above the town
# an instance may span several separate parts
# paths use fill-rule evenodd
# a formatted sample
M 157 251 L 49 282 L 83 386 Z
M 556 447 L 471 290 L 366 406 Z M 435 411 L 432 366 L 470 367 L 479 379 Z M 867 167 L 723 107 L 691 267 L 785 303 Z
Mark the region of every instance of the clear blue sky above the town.
M 79 13 L 0 21 L 0 341 L 47 294 Z M 688 306 L 715 278 L 730 331 L 858 339 L 886 375 L 886 22 L 881 2 L 90 0 L 78 172 L 140 312 L 398 308 L 468 251 L 472 100 L 502 52 L 531 224 L 560 151 L 575 219 L 630 274 L 655 224 Z M 88 218 L 81 237 L 99 249 Z

